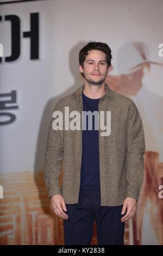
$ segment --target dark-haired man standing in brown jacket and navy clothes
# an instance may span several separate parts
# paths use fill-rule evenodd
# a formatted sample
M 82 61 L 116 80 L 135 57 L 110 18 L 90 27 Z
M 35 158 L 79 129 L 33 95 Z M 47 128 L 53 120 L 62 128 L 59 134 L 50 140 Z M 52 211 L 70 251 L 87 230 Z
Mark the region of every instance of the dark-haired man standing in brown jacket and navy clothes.
M 54 118 L 49 126 L 44 178 L 51 206 L 64 220 L 65 245 L 90 245 L 94 220 L 98 245 L 123 245 L 124 223 L 134 216 L 139 199 L 145 153 L 143 125 L 135 103 L 105 84 L 111 59 L 109 46 L 102 42 L 89 42 L 80 50 L 84 85 L 55 105 L 53 117 L 59 113 L 63 117 L 60 129 Z M 68 113 L 105 113 L 111 117 L 110 121 L 105 118 L 104 125 L 106 129 L 111 125 L 110 132 L 103 132 L 102 115 L 98 130 L 97 115 L 92 115 L 92 129 L 81 115 L 82 129 L 70 129 L 65 107 L 69 107 Z

